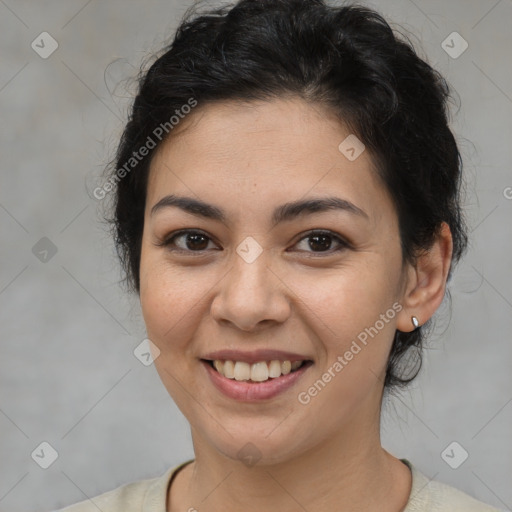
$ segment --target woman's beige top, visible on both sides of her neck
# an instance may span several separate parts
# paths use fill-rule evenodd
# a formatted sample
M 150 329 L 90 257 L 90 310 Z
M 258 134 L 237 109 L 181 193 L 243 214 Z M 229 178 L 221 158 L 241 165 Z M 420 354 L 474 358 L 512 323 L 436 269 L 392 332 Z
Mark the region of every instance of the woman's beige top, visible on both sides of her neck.
M 412 473 L 411 494 L 404 512 L 499 512 L 454 487 L 430 480 L 408 460 L 401 460 Z M 173 477 L 190 462 L 193 459 L 167 470 L 162 476 L 122 485 L 55 512 L 166 512 L 167 491 Z

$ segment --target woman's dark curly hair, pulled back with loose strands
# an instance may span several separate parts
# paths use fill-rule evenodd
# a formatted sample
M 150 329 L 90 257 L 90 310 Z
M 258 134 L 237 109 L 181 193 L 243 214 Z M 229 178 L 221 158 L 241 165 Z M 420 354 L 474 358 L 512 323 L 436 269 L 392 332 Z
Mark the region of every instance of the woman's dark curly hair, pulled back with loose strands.
M 400 36 L 379 13 L 358 4 L 240 0 L 204 12 L 197 5 L 189 9 L 172 41 L 141 70 L 115 161 L 107 168 L 116 185 L 109 222 L 130 290 L 140 292 L 151 158 L 172 137 L 169 119 L 191 98 L 205 105 L 292 95 L 328 107 L 373 156 L 398 213 L 403 261 L 414 264 L 441 224 L 448 224 L 450 279 L 467 246 L 462 158 L 448 126 L 452 91 Z M 156 127 L 165 127 L 163 137 L 155 137 Z M 150 139 L 154 147 L 148 149 Z M 135 160 L 144 145 L 147 154 Z M 385 388 L 403 386 L 418 374 L 425 327 L 428 322 L 395 332 Z M 406 375 L 408 352 L 416 353 L 415 371 Z

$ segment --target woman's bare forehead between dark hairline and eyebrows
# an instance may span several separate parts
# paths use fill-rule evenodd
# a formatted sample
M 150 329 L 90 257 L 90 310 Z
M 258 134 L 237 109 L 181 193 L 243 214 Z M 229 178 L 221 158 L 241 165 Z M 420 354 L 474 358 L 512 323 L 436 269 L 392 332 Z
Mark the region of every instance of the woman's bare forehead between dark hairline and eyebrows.
M 369 215 L 390 213 L 369 151 L 347 157 L 357 144 L 325 107 L 300 99 L 198 106 L 153 158 L 147 209 L 170 192 L 226 208 L 337 193 Z

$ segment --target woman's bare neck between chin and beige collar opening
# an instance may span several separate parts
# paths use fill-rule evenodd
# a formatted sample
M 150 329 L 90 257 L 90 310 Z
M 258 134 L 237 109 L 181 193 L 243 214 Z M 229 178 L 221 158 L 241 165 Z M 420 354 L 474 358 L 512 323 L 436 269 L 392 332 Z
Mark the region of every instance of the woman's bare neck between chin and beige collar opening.
M 196 459 L 182 471 L 170 512 L 399 512 L 410 493 L 409 469 L 381 447 L 378 428 L 347 426 L 299 456 L 252 467 L 219 454 L 197 434 L 193 440 Z

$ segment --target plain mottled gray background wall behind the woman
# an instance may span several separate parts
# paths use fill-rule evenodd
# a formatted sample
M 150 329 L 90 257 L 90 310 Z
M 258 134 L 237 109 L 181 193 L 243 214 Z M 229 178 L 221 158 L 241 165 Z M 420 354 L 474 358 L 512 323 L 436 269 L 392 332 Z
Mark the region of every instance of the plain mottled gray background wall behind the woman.
M 134 356 L 138 301 L 91 194 L 125 119 L 121 79 L 191 3 L 0 0 L 1 511 L 62 507 L 193 457 L 186 420 Z M 420 377 L 386 401 L 383 444 L 510 510 L 512 1 L 364 3 L 415 34 L 459 95 L 472 239 Z M 47 59 L 31 48 L 43 31 L 59 44 Z M 453 31 L 469 43 L 458 58 L 441 46 Z M 57 249 L 46 262 L 42 237 Z M 43 441 L 58 452 L 48 469 L 31 457 Z M 441 457 L 452 441 L 469 453 L 457 469 Z

